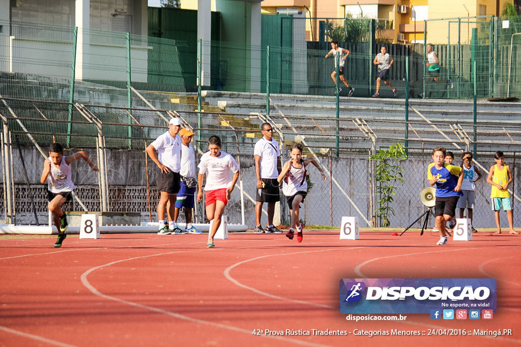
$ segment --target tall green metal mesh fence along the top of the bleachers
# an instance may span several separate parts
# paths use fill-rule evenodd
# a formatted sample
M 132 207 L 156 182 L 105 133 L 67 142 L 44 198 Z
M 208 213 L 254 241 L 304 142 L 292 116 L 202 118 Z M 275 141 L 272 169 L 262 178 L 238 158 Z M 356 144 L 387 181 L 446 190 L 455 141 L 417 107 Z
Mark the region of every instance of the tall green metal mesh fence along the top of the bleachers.
M 356 40 L 340 43 L 351 50 L 344 76 L 356 89 L 354 97 L 373 95 L 377 68 L 372 62 L 383 45 L 375 29 L 379 22 L 318 22 L 326 23 L 324 28 L 337 28 L 345 40 Z M 490 16 L 427 20 L 424 44 L 386 43 L 394 59 L 389 78 L 398 87 L 399 97 L 521 96 L 521 62 L 517 59 L 521 19 L 509 18 L 508 23 L 506 28 L 502 18 Z M 382 28 L 390 25 L 383 24 Z M 0 25 L 8 28 L 0 33 L 0 94 L 5 97 L 132 107 L 140 101 L 131 87 L 177 94 L 193 92 L 197 85 L 203 90 L 231 92 L 336 94 L 330 78 L 335 58 L 324 59 L 334 36 L 329 29 L 323 30 L 322 43 L 303 41 L 294 47 L 199 42 L 199 57 L 192 63 L 200 80 L 192 81 L 181 65 L 187 60 L 183 56 L 187 43 L 182 41 L 33 23 Z M 358 33 L 355 38 L 346 34 L 353 30 Z M 440 60 L 438 83 L 426 73 L 427 43 Z M 340 96 L 346 93 L 344 88 Z

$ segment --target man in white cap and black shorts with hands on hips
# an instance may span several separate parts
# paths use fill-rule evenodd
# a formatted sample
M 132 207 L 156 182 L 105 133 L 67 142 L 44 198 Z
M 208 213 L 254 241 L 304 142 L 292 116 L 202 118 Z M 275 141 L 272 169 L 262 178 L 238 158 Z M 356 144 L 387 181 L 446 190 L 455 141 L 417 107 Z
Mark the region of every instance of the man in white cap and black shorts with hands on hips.
M 177 135 L 180 128 L 179 118 L 170 119 L 168 131 L 159 135 L 146 147 L 146 153 L 159 169 L 157 176 L 157 189 L 160 191 L 157 204 L 157 219 L 159 220 L 157 234 L 159 235 L 185 234 L 182 230 L 175 230 L 173 223 L 174 205 L 180 187 L 181 138 Z M 165 221 L 167 202 L 170 204 L 167 210 L 168 221 Z

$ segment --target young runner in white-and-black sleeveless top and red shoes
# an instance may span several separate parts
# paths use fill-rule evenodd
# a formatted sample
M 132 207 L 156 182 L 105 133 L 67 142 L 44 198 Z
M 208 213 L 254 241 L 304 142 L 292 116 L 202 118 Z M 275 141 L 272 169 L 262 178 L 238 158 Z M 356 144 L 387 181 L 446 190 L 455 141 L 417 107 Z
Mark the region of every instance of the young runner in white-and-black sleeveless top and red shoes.
M 303 147 L 301 144 L 293 144 L 291 148 L 291 159 L 284 163 L 282 171 L 277 177 L 277 181 L 282 181 L 282 192 L 288 201 L 288 207 L 290 208 L 291 225 L 286 237 L 290 240 L 293 239 L 296 230 L 296 240 L 302 242 L 302 228 L 303 225 L 300 223 L 300 203 L 304 201 L 307 195 L 307 182 L 306 182 L 306 166 L 309 164 L 315 165 L 320 173 L 324 182 L 326 181 L 326 175 L 324 171 L 318 166 L 317 162 L 313 158 L 302 159 Z

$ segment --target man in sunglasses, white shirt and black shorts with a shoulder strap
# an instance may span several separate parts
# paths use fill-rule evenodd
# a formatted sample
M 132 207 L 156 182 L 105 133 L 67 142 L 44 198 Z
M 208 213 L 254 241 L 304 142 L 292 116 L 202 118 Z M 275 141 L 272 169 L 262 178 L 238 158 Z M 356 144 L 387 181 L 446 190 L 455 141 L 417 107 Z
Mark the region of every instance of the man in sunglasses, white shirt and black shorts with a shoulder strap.
M 273 138 L 273 128 L 269 123 L 261 125 L 263 137 L 257 141 L 253 150 L 255 175 L 257 176 L 257 194 L 255 203 L 255 233 L 282 233 L 273 225 L 275 203 L 279 201 L 279 183 L 277 177 L 282 169 L 279 143 Z M 263 203 L 268 203 L 268 224 L 261 226 Z

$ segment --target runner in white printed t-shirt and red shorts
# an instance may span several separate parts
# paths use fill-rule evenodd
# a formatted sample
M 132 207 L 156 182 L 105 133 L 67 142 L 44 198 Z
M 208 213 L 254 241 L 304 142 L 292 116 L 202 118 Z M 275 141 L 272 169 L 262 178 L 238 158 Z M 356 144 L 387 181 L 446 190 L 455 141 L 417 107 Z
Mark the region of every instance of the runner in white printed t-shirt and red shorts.
M 203 180 L 206 174 L 206 185 L 204 187 L 206 192 L 206 217 L 209 221 L 214 220 L 208 233 L 206 247 L 215 247 L 214 235 L 221 225 L 222 213 L 225 211 L 228 200 L 230 200 L 231 191 L 235 187 L 237 179 L 239 179 L 239 164 L 231 155 L 221 151 L 219 136 L 212 136 L 208 139 L 208 150 L 197 165 L 197 168 L 199 168 L 197 202 L 203 199 Z M 230 170 L 233 172 L 231 182 Z

